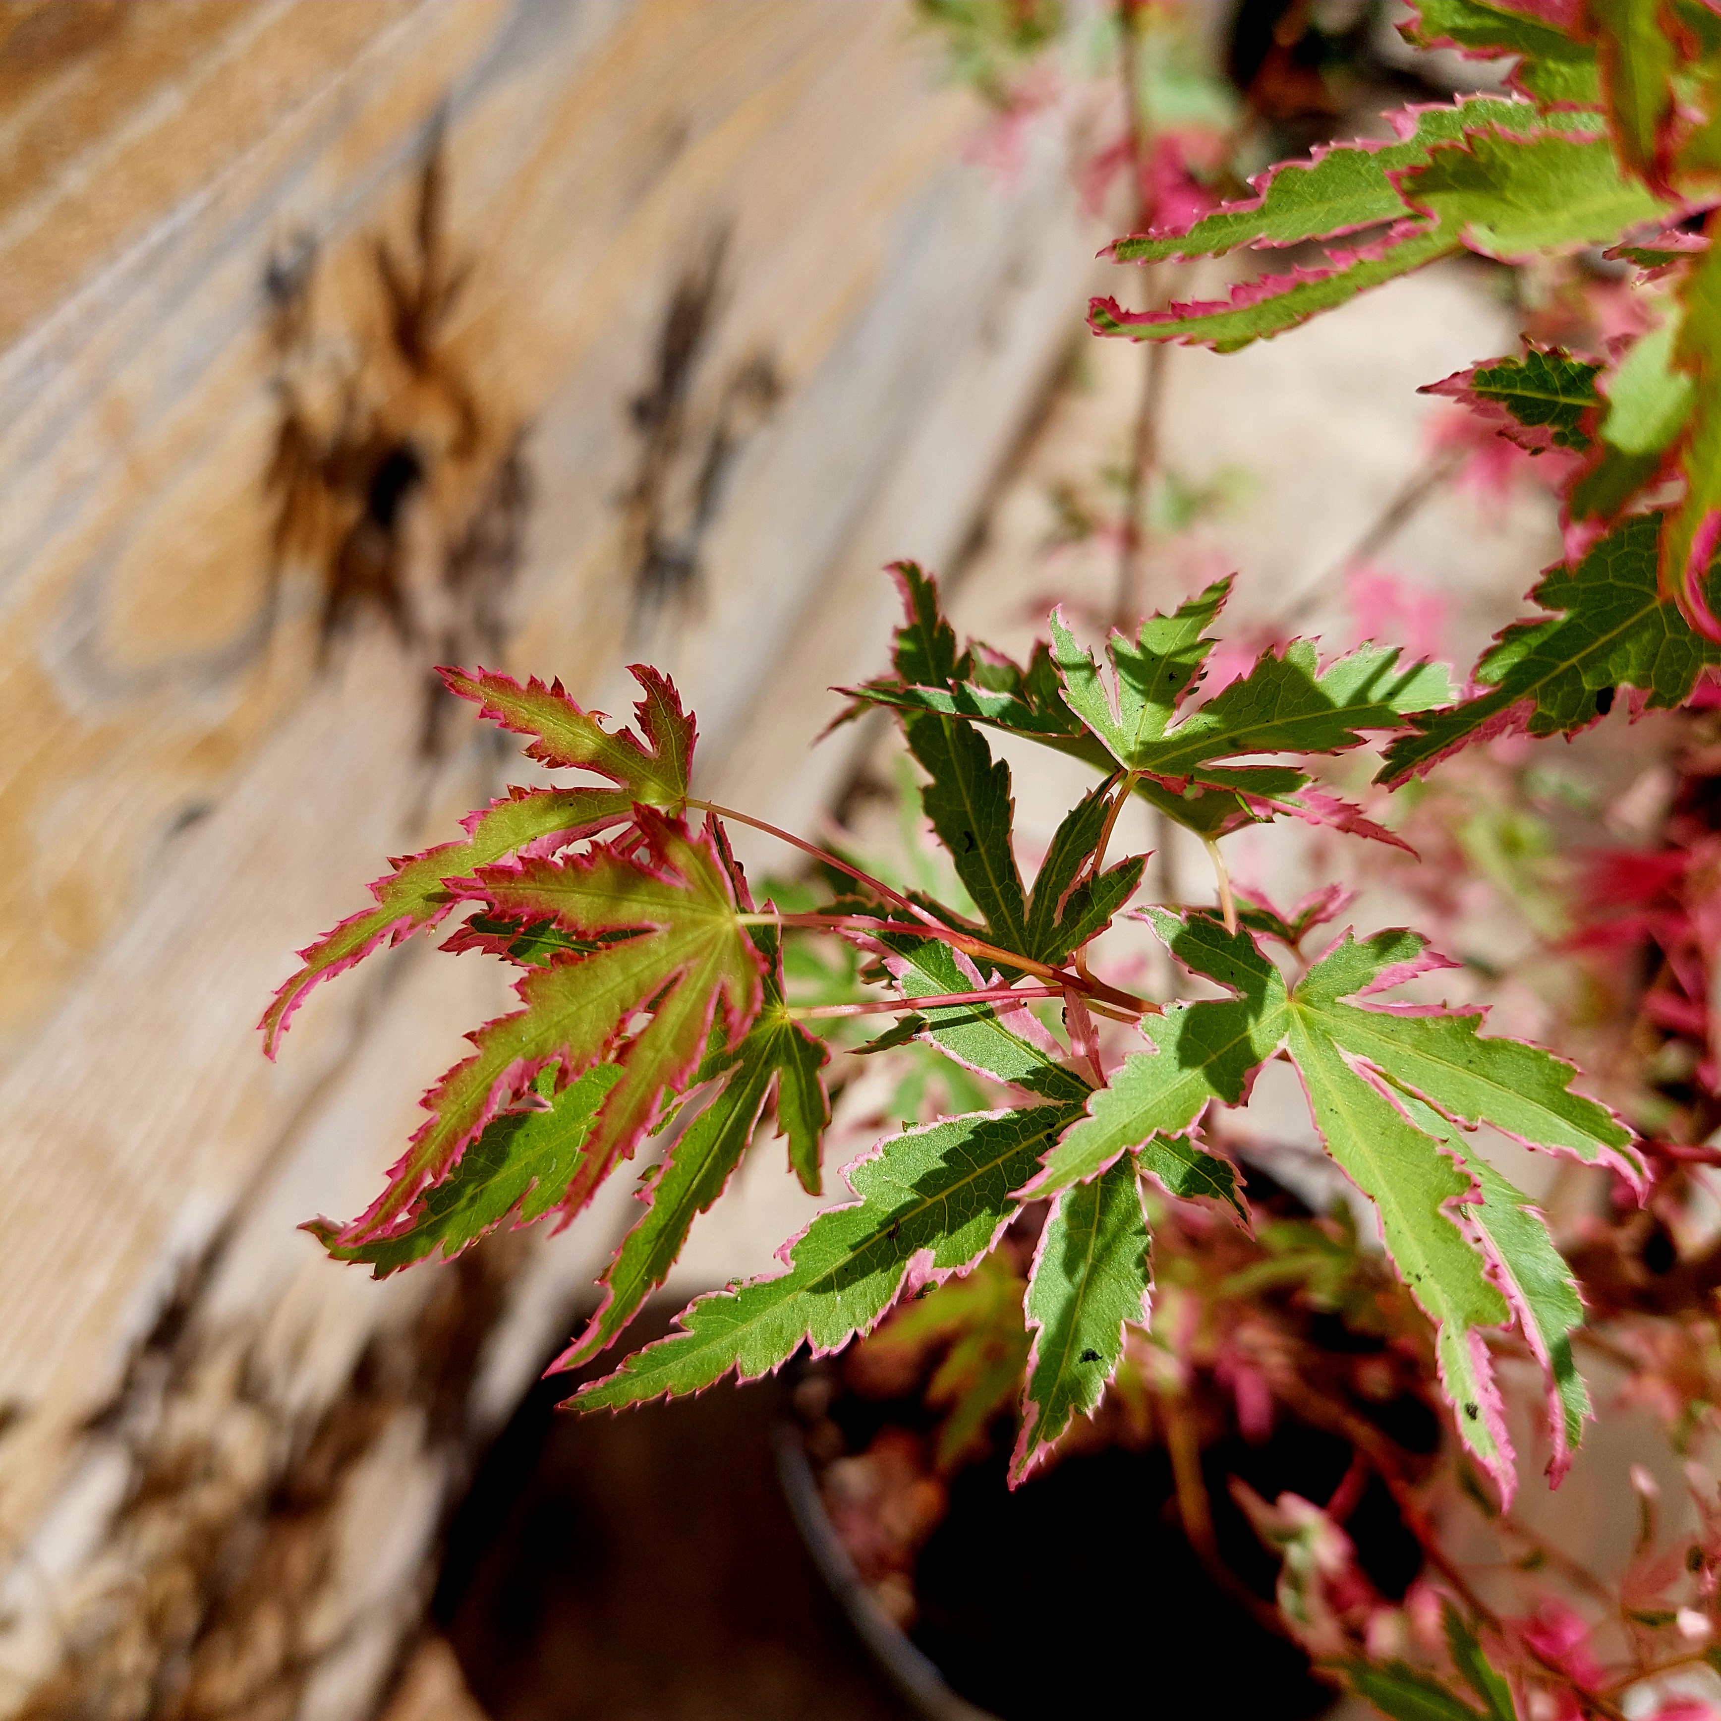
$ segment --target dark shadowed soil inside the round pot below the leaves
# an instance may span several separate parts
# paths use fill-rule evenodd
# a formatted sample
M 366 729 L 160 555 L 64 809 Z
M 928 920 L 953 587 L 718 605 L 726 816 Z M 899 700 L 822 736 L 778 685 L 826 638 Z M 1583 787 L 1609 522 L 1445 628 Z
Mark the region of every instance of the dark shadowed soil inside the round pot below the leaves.
M 797 1403 L 831 1520 L 859 1554 L 862 1578 L 950 1687 L 1000 1721 L 1127 1712 L 1174 1695 L 1220 1721 L 1303 1721 L 1334 1702 L 1306 1656 L 1260 1626 L 1203 1568 L 1182 1532 L 1162 1447 L 1079 1453 L 1012 1492 L 1002 1446 L 947 1482 L 916 1475 L 929 1442 L 914 1397 L 866 1399 L 816 1365 Z M 873 1465 L 881 1485 L 857 1482 L 843 1468 L 855 1463 Z M 1274 1595 L 1279 1561 L 1231 1499 L 1229 1478 L 1268 1501 L 1282 1490 L 1325 1501 L 1349 1465 L 1346 1442 L 1286 1420 L 1265 1444 L 1231 1439 L 1203 1454 L 1218 1551 L 1261 1601 Z M 910 1599 L 900 1559 L 904 1540 L 916 1539 L 917 1511 L 940 1516 L 910 1556 Z M 1346 1528 L 1368 1576 L 1401 1597 L 1422 1552 L 1379 1480 Z

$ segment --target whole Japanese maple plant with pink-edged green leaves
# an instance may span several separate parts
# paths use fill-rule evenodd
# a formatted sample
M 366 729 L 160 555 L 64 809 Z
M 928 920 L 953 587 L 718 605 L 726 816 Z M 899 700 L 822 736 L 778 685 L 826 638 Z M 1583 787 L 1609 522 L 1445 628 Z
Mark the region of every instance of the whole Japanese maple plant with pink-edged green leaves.
M 1583 1260 L 1575 1270 L 1537 1206 L 1473 1144 L 1480 1126 L 1595 1167 L 1613 1179 L 1619 1213 L 1685 1200 L 1681 1179 L 1712 1150 L 1678 1120 L 1630 1127 L 1554 1052 L 1485 1033 L 1480 1010 L 1394 1002 L 1394 988 L 1449 965 L 1422 933 L 1341 929 L 1337 891 L 1294 912 L 1236 893 L 1222 845 L 1274 819 L 1401 842 L 1391 821 L 1317 774 L 1315 761 L 1372 742 L 1384 745 L 1377 781 L 1391 790 L 1478 742 L 1570 737 L 1614 709 L 1623 721 L 1714 702 L 1721 251 L 1709 210 L 1721 208 L 1721 9 L 1422 0 L 1406 29 L 1423 46 L 1501 60 L 1509 76 L 1497 95 L 1404 108 L 1389 117 L 1387 141 L 1322 146 L 1260 176 L 1251 196 L 1110 248 L 1124 263 L 1246 248 L 1270 265 L 1274 250 L 1320 244 L 1318 263 L 1267 267 L 1215 301 L 1126 310 L 1096 299 L 1091 325 L 1229 351 L 1461 251 L 1525 262 L 1606 250 L 1652 308 L 1642 332 L 1599 356 L 1532 342 L 1430 379 L 1558 475 L 1566 559 L 1542 575 L 1535 613 L 1463 687 L 1391 642 L 1329 654 L 1296 640 L 1203 697 L 1229 582 L 1132 621 L 1098 651 L 1055 613 L 1017 663 L 960 642 L 935 580 L 898 564 L 891 673 L 847 694 L 854 711 L 885 707 L 900 723 L 924 773 L 926 821 L 965 893 L 957 904 L 702 799 L 694 718 L 656 669 L 633 669 L 635 728 L 606 726 L 559 683 L 442 671 L 484 718 L 528 737 L 532 759 L 573 780 L 515 788 L 473 812 L 461 840 L 398 862 L 372 886 L 373 907 L 301 952 L 267 1012 L 274 1055 L 317 983 L 456 917 L 442 948 L 521 969 L 520 1009 L 478 1027 L 472 1057 L 425 1095 L 425 1122 L 372 1206 L 310 1227 L 330 1255 L 382 1275 L 453 1256 L 504 1224 L 566 1224 L 626 1162 L 661 1148 L 595 1311 L 556 1366 L 585 1365 L 664 1282 L 762 1119 L 786 1136 L 792 1174 L 821 1191 L 831 1115 L 821 1036 L 876 1015 L 885 1033 L 873 1046 L 936 1048 L 996 1103 L 876 1143 L 842 1169 L 850 1198 L 785 1244 L 781 1272 L 699 1298 L 669 1337 L 583 1385 L 578 1408 L 620 1409 L 754 1379 L 805 1349 L 838 1351 L 926 1287 L 979 1274 L 971 1282 L 1003 1286 L 1000 1306 L 1024 1332 L 1010 1363 L 1022 1379 L 1010 1468 L 1022 1482 L 1120 1370 L 1139 1373 L 1131 1356 L 1143 1344 L 1175 1361 L 1196 1342 L 1189 1322 L 1155 1329 L 1158 1229 L 1179 1239 L 1177 1260 L 1227 1261 L 1227 1298 L 1313 1286 L 1375 1308 L 1404 1366 L 1425 1368 L 1447 1425 L 1444 1463 L 1471 1478 L 1499 1537 L 1520 1533 L 1518 1365 L 1542 1382 L 1537 1442 L 1558 1485 L 1592 1415 L 1575 1342 L 1594 1337 L 1628 1363 L 1642 1353 L 1597 1335 L 1632 1313 L 1630 1299 L 1606 1275 L 1580 1277 Z M 1091 771 L 1033 879 L 990 733 Z M 1215 907 L 1139 900 L 1144 857 L 1113 857 L 1131 797 L 1206 845 Z M 809 897 L 802 885 L 785 905 L 756 900 L 730 850 L 731 821 L 783 838 L 817 862 L 816 881 L 842 886 Z M 1668 879 L 1675 873 L 1687 879 L 1678 867 Z M 1107 979 L 1096 940 L 1119 916 L 1144 921 L 1181 969 L 1212 984 L 1165 1002 Z M 797 1002 L 785 950 L 804 940 L 859 952 L 847 996 Z M 1117 1027 L 1101 1043 L 1101 1022 L 1122 1024 L 1132 1048 L 1119 1055 Z M 1384 1260 L 1346 1253 L 1335 1222 L 1275 1220 L 1249 1243 L 1246 1175 L 1224 1150 L 1222 1119 L 1275 1058 L 1294 1067 L 1325 1151 L 1373 1205 Z M 1031 1253 L 1021 1253 L 1024 1215 L 1038 1224 Z M 1000 1268 L 993 1251 L 1007 1231 L 1019 1255 Z M 1237 1268 L 1243 1246 L 1253 1265 Z M 1656 1313 L 1690 1342 L 1714 1315 L 1711 1299 L 1712 1280 L 1692 1279 L 1685 1303 L 1664 1299 Z M 983 1301 L 998 1305 L 991 1291 Z M 1712 1348 L 1714 1329 L 1702 1330 Z M 1265 1379 L 1287 1403 L 1311 1394 L 1296 1370 Z M 1700 1422 L 1700 1385 L 1683 1391 L 1680 1413 Z M 1418 1496 L 1427 1477 L 1394 1470 L 1365 1415 L 1337 1401 L 1329 1411 L 1358 1463 L 1392 1485 L 1428 1571 L 1420 1626 L 1416 1609 L 1401 1609 L 1389 1628 L 1392 1611 L 1368 1601 L 1349 1564 L 1335 1502 L 1260 1506 L 1263 1533 L 1286 1551 L 1284 1625 L 1337 1676 L 1394 1716 L 1711 1712 L 1656 1681 L 1714 1647 L 1714 1497 L 1700 1494 L 1683 1544 L 1645 1535 L 1611 1590 L 1564 1573 L 1523 1530 L 1508 1552 L 1551 1587 L 1520 1618 L 1490 1604 L 1442 1542 Z M 1563 1578 L 1582 1607 L 1556 1594 Z

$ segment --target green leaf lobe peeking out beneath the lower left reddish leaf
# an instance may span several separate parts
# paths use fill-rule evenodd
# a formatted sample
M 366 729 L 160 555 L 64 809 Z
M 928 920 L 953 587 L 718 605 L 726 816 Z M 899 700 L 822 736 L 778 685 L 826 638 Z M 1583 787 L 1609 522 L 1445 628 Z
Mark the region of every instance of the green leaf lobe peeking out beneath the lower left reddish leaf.
M 313 1220 L 306 1229 L 337 1261 L 361 1261 L 372 1277 L 387 1279 L 429 1255 L 453 1260 L 508 1218 L 530 1225 L 566 1196 L 597 1108 L 620 1079 L 621 1070 L 613 1064 L 597 1064 L 556 1093 L 554 1072 L 546 1070 L 532 1084 L 546 1110 L 492 1119 L 454 1170 L 425 1191 L 404 1231 L 344 1244 L 341 1227 L 327 1220 Z

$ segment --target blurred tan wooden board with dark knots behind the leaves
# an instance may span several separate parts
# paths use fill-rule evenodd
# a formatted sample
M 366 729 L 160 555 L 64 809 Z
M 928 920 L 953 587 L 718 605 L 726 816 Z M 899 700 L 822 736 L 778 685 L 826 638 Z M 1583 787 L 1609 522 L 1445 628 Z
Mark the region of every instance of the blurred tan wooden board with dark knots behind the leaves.
M 373 1284 L 501 1003 L 408 948 L 253 1022 L 521 773 L 478 657 L 804 819 L 878 566 L 953 558 L 1076 325 L 1057 139 L 893 0 L 0 5 L 0 1714 L 363 1716 L 618 1208 Z M 625 1189 L 621 1189 L 625 1200 Z

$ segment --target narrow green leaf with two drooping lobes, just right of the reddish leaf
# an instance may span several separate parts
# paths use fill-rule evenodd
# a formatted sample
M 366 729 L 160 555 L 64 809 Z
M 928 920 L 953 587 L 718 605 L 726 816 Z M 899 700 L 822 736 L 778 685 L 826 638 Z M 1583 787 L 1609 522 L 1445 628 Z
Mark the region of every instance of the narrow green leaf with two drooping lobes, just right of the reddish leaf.
M 682 1131 L 638 1193 L 638 1200 L 649 1203 L 645 1215 L 604 1270 L 597 1313 L 558 1358 L 558 1368 L 573 1368 L 613 1344 L 645 1298 L 668 1279 L 694 1220 L 723 1194 L 747 1151 L 773 1086 L 778 1122 L 790 1143 L 790 1165 L 809 1194 L 819 1193 L 819 1138 L 831 1120 L 819 1070 L 830 1053 L 788 1014 L 776 933 L 757 928 L 754 941 L 766 957 L 759 1015 L 738 1045 L 718 1048 L 700 1067 L 700 1081 L 726 1077 L 726 1083 Z

